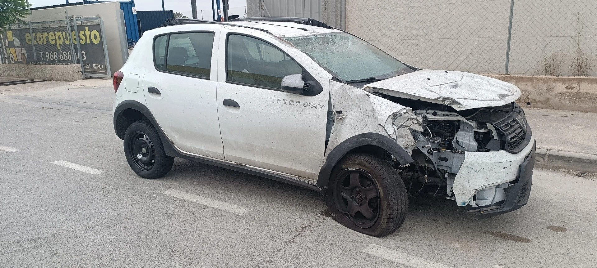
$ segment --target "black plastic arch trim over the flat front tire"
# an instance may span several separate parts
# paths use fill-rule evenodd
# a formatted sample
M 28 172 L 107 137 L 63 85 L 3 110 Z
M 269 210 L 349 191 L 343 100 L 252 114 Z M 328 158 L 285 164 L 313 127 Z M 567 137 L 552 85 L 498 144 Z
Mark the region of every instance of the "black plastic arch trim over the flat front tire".
M 353 149 L 364 145 L 373 145 L 386 150 L 402 165 L 414 161 L 413 157 L 411 157 L 404 148 L 393 141 L 393 139 L 381 135 L 380 133 L 361 133 L 341 142 L 330 152 L 330 154 L 328 154 L 324 166 L 319 170 L 317 186 L 319 188 L 327 187 L 330 182 L 330 175 L 336 164 L 344 157 L 344 155 L 348 154 Z

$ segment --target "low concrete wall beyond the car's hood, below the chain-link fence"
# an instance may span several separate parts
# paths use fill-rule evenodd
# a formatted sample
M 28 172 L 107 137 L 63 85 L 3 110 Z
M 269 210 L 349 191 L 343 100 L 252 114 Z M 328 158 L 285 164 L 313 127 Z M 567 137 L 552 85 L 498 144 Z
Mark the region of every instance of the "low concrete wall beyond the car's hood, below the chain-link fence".
M 484 74 L 521 89 L 521 107 L 597 112 L 597 77 Z

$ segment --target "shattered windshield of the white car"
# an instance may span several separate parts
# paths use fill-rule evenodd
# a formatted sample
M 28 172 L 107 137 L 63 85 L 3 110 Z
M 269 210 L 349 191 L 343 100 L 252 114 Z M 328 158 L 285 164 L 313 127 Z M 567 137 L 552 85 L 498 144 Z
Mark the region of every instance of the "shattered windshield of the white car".
M 344 32 L 284 38 L 344 82 L 414 71 L 365 40 Z

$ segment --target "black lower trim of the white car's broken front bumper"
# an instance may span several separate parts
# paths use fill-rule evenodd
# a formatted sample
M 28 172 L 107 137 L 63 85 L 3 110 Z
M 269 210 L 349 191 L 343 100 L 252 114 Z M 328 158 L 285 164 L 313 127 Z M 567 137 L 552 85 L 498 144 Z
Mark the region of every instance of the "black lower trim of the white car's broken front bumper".
M 533 167 L 535 164 L 535 148 L 536 143 L 533 142 L 533 150 L 527 155 L 526 159 L 519 165 L 519 172 L 517 182 L 512 183 L 504 191 L 506 192 L 506 200 L 500 208 L 493 210 L 480 210 L 475 213 L 473 219 L 485 219 L 488 217 L 497 216 L 508 213 L 510 211 L 518 210 L 523 205 L 526 205 L 528 198 L 531 195 L 531 185 L 533 182 Z

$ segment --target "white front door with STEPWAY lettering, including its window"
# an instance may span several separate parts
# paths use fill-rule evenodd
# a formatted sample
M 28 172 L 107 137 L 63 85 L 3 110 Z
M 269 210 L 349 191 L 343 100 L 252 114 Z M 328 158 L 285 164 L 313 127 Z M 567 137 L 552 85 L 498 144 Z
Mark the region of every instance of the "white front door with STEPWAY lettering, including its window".
M 226 160 L 316 179 L 324 160 L 327 89 L 316 96 L 282 92 L 282 77 L 303 73 L 293 58 L 249 36 L 230 34 L 225 41 L 217 109 Z

